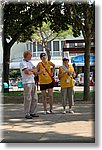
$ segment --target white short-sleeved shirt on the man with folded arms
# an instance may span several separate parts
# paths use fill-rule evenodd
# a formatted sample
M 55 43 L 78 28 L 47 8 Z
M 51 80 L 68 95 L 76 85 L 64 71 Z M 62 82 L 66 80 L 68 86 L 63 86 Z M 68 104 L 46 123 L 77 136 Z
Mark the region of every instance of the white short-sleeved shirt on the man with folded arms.
M 27 83 L 35 83 L 34 81 L 34 75 L 28 75 L 24 73 L 25 69 L 33 69 L 34 65 L 32 64 L 31 61 L 27 61 L 25 59 L 22 60 L 20 63 L 20 72 L 22 76 L 22 84 L 27 84 Z

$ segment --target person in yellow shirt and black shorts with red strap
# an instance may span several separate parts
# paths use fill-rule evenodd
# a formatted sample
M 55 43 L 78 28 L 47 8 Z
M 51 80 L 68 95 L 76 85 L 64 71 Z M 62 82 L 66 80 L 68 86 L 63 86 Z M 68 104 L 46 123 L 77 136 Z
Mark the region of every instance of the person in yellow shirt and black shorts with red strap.
M 44 114 L 53 113 L 53 82 L 51 76 L 53 75 L 55 64 L 47 60 L 46 53 L 40 54 L 41 62 L 38 63 L 38 75 L 40 90 L 42 91 L 42 102 L 44 106 Z M 50 111 L 47 111 L 46 104 L 46 90 L 48 90 Z

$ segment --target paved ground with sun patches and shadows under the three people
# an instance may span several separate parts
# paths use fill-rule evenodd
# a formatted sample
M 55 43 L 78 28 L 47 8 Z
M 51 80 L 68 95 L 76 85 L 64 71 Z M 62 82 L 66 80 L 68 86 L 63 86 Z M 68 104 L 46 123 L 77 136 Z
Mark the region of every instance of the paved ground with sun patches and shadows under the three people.
M 1 142 L 66 142 L 93 143 L 94 104 L 75 103 L 74 114 L 62 114 L 62 107 L 54 105 L 55 114 L 43 114 L 42 104 L 38 104 L 39 118 L 26 120 L 23 104 L 1 104 L 3 121 Z M 2 109 L 1 109 L 2 110 Z

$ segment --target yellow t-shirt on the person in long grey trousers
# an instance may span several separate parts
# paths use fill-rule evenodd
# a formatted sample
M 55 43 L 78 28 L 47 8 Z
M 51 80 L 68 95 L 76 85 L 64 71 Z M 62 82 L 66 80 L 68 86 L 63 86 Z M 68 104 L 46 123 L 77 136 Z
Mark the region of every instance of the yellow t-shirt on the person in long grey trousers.
M 65 72 L 65 70 L 62 66 L 59 69 L 62 73 Z M 74 72 L 73 66 L 71 64 L 68 65 L 67 69 L 68 69 L 68 71 L 70 71 L 72 73 Z M 65 73 L 60 79 L 60 85 L 61 85 L 61 88 L 67 88 L 67 87 L 74 86 L 73 77 L 69 76 L 67 73 Z

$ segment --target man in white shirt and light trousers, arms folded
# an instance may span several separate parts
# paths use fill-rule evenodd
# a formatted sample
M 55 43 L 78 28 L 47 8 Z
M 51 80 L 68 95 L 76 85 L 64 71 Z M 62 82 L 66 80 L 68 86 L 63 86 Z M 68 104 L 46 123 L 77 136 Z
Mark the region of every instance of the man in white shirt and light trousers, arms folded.
M 37 74 L 37 69 L 30 61 L 32 57 L 30 51 L 25 51 L 23 56 L 24 59 L 20 63 L 20 71 L 24 87 L 24 112 L 26 119 L 32 119 L 32 117 L 39 117 L 37 115 L 38 96 L 34 81 L 34 74 Z

